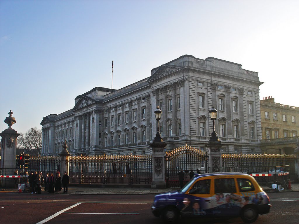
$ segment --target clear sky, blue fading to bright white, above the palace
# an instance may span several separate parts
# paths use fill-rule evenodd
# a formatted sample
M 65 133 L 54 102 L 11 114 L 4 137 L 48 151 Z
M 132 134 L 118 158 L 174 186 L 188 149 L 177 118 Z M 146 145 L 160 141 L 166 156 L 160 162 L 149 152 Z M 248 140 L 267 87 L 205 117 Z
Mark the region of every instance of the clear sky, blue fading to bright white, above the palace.
M 259 73 L 260 99 L 299 107 L 299 1 L 0 1 L 0 121 L 18 133 L 94 87 L 147 78 L 182 55 Z M 294 68 L 295 66 L 295 68 Z M 8 126 L 0 122 L 0 132 Z

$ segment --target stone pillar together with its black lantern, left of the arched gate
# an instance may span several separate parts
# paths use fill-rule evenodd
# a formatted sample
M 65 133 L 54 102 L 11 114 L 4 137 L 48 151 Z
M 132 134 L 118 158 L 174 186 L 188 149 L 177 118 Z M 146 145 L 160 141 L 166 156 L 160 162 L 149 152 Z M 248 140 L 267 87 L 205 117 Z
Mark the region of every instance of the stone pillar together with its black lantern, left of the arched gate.
M 165 182 L 165 153 L 164 148 L 167 144 L 163 142 L 159 130 L 159 121 L 161 119 L 162 111 L 157 107 L 154 111 L 158 128 L 156 137 L 149 146 L 152 148 L 152 184 L 151 188 L 166 188 Z

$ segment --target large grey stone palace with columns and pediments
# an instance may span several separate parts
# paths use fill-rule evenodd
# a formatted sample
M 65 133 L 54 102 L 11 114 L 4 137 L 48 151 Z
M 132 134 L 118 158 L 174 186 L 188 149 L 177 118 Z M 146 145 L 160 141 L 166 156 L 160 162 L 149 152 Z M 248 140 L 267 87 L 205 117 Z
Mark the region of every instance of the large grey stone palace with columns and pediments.
M 154 110 L 163 111 L 160 132 L 166 150 L 190 145 L 205 150 L 215 130 L 224 153 L 260 152 L 258 73 L 208 57 L 181 56 L 153 68 L 151 76 L 119 90 L 96 87 L 75 98 L 74 108 L 45 116 L 42 154 L 150 154 L 155 136 Z

